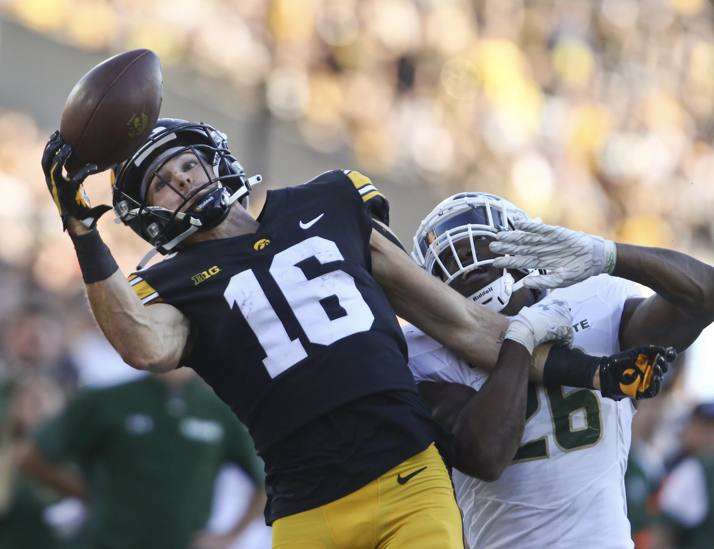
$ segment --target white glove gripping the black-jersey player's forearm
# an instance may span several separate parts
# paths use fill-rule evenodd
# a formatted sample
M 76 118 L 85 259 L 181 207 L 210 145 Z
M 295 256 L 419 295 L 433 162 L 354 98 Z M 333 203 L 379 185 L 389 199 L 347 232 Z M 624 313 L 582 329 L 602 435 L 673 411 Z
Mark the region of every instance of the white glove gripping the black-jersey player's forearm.
M 553 341 L 558 345 L 573 346 L 573 315 L 568 302 L 558 298 L 545 298 L 511 317 L 506 339 L 521 343 L 533 354 L 540 343 Z

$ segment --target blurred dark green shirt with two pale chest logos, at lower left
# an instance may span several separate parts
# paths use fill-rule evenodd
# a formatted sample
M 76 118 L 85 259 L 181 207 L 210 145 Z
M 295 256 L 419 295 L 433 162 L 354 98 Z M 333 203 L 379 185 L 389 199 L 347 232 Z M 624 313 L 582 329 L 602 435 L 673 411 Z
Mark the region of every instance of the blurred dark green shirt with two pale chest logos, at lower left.
M 263 463 L 236 415 L 198 382 L 153 377 L 80 391 L 36 435 L 38 450 L 84 470 L 91 492 L 84 545 L 181 549 L 211 512 L 223 463 L 263 484 Z

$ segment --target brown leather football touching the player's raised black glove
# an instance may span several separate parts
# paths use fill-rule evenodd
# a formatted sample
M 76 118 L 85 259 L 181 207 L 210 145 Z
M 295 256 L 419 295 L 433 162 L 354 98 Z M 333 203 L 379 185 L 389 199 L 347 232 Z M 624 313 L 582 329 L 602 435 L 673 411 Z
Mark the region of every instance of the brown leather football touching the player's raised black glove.
M 159 119 L 162 89 L 159 56 L 150 49 L 125 51 L 82 76 L 59 127 L 72 146 L 67 173 L 89 163 L 104 171 L 129 158 Z

